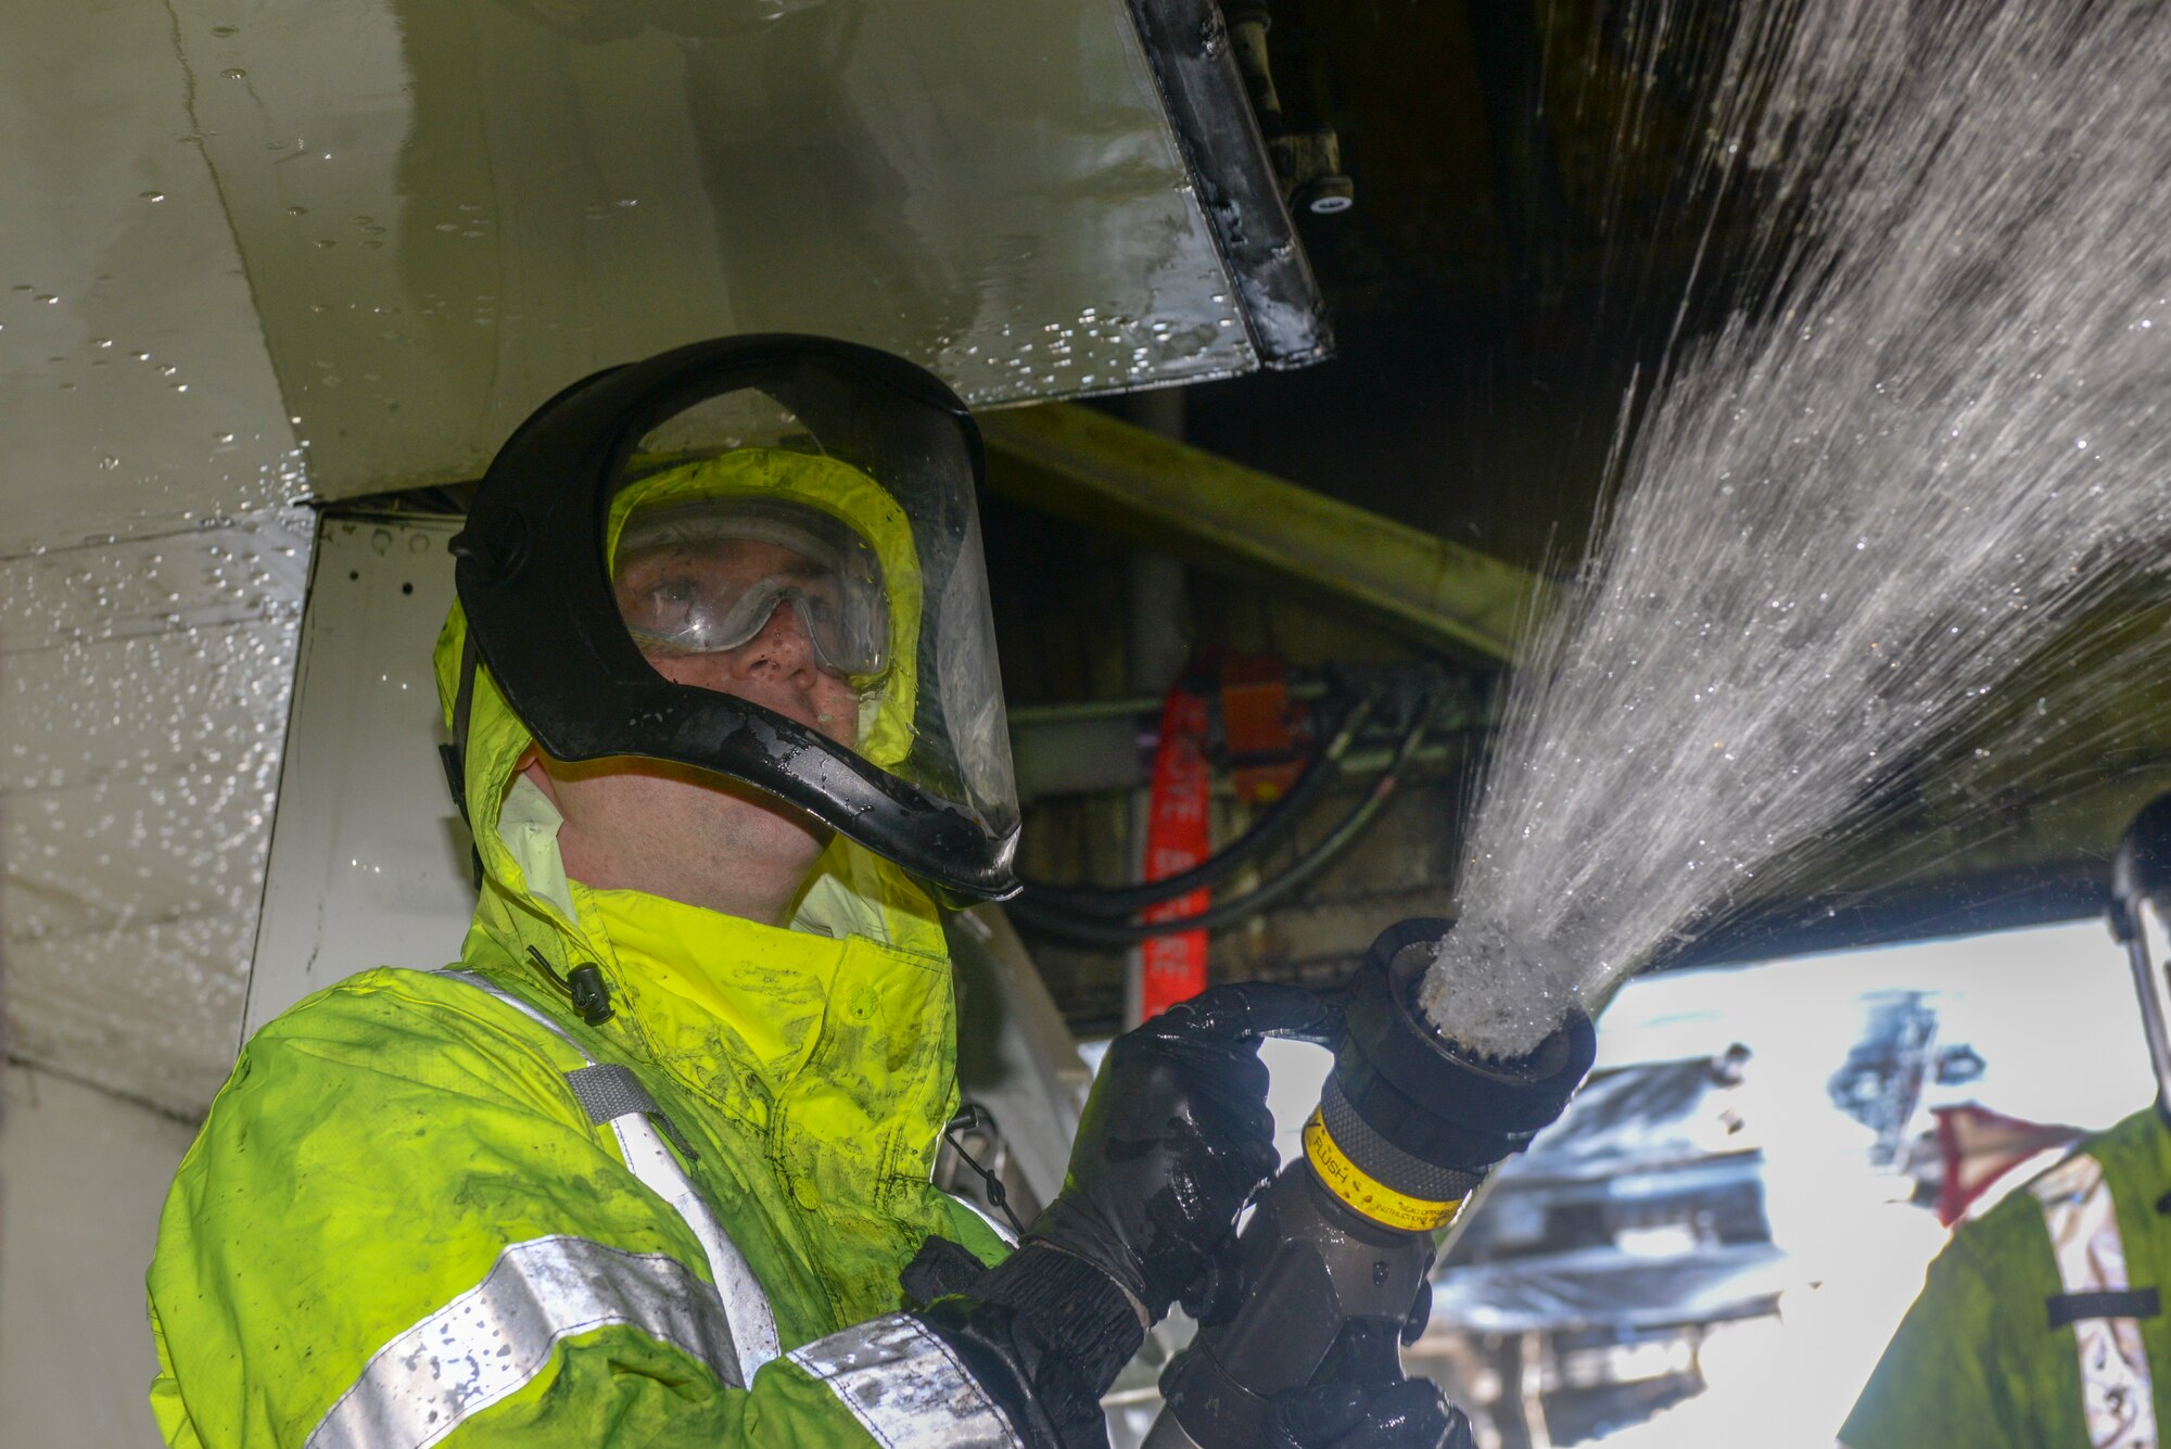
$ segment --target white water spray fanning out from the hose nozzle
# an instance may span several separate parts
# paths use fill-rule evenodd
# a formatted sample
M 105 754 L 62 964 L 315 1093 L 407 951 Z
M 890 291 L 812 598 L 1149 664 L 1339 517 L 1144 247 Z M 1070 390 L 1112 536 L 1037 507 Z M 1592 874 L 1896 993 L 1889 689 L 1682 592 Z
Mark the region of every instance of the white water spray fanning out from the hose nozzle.
M 1685 39 L 1678 9 L 1628 7 L 1652 43 Z M 2171 649 L 2041 668 L 2171 579 L 2171 11 L 1728 13 L 1685 195 L 1754 221 L 1685 221 L 1745 282 L 1624 408 L 1461 835 L 1426 1004 L 1496 1054 L 1693 933 L 1858 876 L 1893 822 L 1969 842 L 2002 829 L 1991 800 L 2099 770 L 2069 716 Z

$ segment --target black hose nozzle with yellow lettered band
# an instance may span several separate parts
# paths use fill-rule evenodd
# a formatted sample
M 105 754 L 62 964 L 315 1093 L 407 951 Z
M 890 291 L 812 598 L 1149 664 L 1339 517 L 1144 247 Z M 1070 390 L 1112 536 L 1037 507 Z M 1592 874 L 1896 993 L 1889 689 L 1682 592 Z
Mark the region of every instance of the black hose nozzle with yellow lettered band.
M 1400 1380 L 1435 1234 L 1591 1069 L 1596 1035 L 1576 1009 L 1507 1061 L 1433 1030 L 1418 989 L 1450 926 L 1407 920 L 1366 952 L 1305 1154 L 1266 1189 L 1231 1265 L 1209 1280 L 1198 1338 L 1161 1373 L 1168 1406 L 1146 1449 L 1259 1445 L 1274 1395 L 1322 1371 Z

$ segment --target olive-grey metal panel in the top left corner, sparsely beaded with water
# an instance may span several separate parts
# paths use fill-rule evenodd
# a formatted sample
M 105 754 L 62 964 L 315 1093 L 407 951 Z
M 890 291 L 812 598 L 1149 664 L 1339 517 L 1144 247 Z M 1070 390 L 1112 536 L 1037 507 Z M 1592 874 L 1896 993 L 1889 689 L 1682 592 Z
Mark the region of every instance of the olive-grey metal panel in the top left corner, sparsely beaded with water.
M 163 4 L 0 4 L 0 557 L 300 492 Z

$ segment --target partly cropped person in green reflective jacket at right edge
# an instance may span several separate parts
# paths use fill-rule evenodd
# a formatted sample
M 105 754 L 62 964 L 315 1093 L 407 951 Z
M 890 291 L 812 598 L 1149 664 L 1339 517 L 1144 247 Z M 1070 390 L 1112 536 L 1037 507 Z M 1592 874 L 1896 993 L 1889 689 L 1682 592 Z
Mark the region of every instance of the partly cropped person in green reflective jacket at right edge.
M 2156 1449 L 2171 1423 L 2171 1035 L 2162 939 L 2171 794 L 2143 809 L 2112 868 L 2110 933 L 2125 946 L 2156 1067 L 2156 1102 L 2086 1139 L 1930 1265 L 1841 1427 L 1845 1449 L 2091 1445 Z M 2151 928 L 2154 926 L 2154 928 Z M 2056 1030 L 2058 1024 L 2047 1024 Z

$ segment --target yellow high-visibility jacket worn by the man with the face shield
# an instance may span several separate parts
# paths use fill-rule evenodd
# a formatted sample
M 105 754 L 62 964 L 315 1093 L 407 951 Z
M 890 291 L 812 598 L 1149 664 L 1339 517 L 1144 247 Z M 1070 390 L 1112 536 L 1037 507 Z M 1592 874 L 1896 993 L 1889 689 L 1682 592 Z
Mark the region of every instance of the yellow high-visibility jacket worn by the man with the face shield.
M 460 646 L 456 612 L 441 683 Z M 934 907 L 842 839 L 792 928 L 586 889 L 528 744 L 480 670 L 458 972 L 280 1015 L 182 1161 L 150 1267 L 167 1442 L 1016 1442 L 899 1312 L 929 1234 L 1003 1254 L 929 1182 L 957 1102 Z

